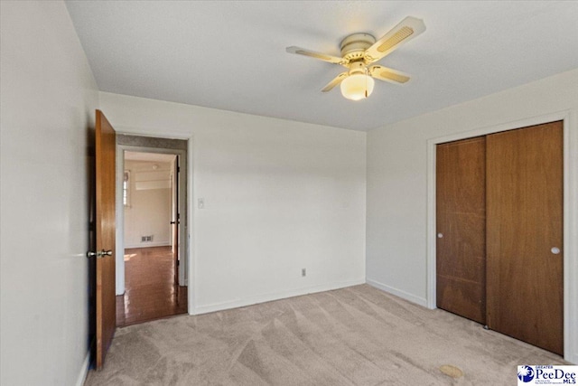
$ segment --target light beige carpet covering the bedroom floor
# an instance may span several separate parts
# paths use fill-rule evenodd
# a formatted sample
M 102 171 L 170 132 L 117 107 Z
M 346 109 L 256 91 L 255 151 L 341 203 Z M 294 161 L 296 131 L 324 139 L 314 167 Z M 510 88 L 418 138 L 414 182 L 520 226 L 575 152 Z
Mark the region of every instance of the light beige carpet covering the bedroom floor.
M 119 329 L 86 385 L 512 385 L 518 364 L 555 363 L 362 285 Z

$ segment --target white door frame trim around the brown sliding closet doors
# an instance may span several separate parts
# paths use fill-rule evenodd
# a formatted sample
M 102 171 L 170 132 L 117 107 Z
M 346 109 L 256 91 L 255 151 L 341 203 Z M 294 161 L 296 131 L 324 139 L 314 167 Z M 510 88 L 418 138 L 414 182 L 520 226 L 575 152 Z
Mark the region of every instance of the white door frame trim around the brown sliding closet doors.
M 444 142 L 563 121 L 564 145 L 564 359 L 578 362 L 578 118 L 570 110 L 480 127 L 427 141 L 427 306 L 436 308 L 435 148 Z M 574 165 L 571 168 L 571 165 Z

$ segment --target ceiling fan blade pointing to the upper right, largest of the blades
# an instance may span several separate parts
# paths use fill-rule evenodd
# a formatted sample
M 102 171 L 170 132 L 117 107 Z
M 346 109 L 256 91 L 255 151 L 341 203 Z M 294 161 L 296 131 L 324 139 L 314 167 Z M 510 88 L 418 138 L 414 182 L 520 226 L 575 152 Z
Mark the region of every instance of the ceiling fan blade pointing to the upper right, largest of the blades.
M 365 51 L 366 63 L 380 60 L 387 54 L 396 51 L 401 44 L 409 42 L 424 31 L 425 24 L 421 19 L 407 16 Z

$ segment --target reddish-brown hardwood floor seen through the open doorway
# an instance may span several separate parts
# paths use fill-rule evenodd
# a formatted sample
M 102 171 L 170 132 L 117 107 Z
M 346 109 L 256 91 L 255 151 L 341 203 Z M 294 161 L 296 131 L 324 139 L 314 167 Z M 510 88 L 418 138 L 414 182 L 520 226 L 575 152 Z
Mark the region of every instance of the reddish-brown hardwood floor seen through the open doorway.
M 186 314 L 187 287 L 174 283 L 171 247 L 125 249 L 125 286 L 117 326 Z

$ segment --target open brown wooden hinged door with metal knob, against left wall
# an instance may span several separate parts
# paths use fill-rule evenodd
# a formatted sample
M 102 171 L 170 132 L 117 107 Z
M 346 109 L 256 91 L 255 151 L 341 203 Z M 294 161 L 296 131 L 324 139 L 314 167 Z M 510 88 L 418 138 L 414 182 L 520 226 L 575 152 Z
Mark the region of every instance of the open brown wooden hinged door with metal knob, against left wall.
M 97 110 L 96 139 L 96 238 L 97 251 L 97 350 L 96 366 L 102 368 L 116 327 L 116 133 Z M 98 253 L 98 252 L 97 252 Z

